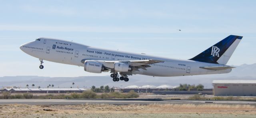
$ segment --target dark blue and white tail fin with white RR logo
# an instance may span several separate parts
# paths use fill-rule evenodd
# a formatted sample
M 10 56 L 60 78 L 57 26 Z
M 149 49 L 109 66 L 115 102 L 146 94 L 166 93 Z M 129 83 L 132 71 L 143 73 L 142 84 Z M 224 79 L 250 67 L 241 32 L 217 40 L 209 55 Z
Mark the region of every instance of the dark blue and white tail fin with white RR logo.
M 227 64 L 242 38 L 242 36 L 230 35 L 189 60 L 214 64 Z

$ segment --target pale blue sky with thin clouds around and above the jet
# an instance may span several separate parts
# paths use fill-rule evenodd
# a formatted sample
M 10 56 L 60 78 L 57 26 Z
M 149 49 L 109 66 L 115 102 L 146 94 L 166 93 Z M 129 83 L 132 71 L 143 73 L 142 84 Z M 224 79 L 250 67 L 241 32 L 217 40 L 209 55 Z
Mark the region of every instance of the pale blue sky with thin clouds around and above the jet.
M 0 0 L 0 76 L 98 76 L 19 49 L 39 37 L 189 59 L 230 34 L 244 36 L 229 65 L 256 63 L 254 0 Z M 181 29 L 182 31 L 178 31 Z

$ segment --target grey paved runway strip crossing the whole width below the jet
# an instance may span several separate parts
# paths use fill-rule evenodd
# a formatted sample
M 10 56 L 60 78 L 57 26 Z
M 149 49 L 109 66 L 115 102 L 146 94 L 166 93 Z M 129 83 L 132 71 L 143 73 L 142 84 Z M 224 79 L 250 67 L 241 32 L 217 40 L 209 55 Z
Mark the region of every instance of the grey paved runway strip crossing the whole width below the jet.
M 250 104 L 256 101 L 234 100 L 166 100 L 166 99 L 0 99 L 0 104 L 77 105 L 77 104 Z

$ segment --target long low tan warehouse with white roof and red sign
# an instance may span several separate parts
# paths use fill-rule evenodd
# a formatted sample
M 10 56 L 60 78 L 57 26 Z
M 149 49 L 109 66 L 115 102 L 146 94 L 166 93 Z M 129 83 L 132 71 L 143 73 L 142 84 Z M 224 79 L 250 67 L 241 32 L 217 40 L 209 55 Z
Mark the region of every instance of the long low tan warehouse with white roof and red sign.
M 256 96 L 256 80 L 213 80 L 214 96 Z

